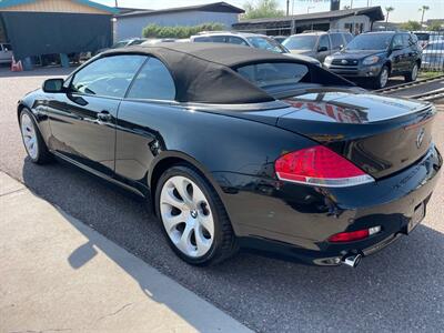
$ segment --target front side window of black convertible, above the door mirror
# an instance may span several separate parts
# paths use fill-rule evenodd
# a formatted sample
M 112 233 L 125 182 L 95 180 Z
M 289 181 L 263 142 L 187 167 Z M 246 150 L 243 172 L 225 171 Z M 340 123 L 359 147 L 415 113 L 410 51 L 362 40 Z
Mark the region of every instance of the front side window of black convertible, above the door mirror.
M 98 59 L 74 74 L 70 89 L 85 94 L 123 98 L 145 59 L 143 56 L 113 56 Z

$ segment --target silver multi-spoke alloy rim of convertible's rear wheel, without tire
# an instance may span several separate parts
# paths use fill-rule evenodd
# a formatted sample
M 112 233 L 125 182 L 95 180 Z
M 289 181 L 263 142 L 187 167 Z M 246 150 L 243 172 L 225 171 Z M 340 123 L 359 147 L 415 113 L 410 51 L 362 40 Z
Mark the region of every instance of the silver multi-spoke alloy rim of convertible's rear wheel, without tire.
M 192 258 L 208 253 L 214 241 L 214 220 L 205 194 L 192 180 L 174 175 L 163 184 L 160 213 L 181 252 Z

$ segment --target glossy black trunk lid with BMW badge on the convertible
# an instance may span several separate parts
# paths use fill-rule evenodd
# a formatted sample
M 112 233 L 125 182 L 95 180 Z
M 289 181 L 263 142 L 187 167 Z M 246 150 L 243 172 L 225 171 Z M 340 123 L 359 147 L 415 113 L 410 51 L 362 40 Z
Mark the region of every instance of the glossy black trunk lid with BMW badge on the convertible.
M 292 111 L 276 127 L 329 147 L 375 179 L 411 165 L 432 142 L 430 103 L 325 90 L 282 101 Z

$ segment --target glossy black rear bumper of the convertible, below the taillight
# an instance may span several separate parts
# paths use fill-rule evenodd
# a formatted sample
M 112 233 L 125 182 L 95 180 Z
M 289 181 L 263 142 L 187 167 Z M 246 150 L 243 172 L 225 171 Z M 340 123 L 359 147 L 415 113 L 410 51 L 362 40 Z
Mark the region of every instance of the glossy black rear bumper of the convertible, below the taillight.
M 224 172 L 214 176 L 242 245 L 305 263 L 333 265 L 350 253 L 370 255 L 412 231 L 415 210 L 426 206 L 442 163 L 432 147 L 420 161 L 396 174 L 342 189 Z M 365 240 L 327 241 L 339 232 L 377 225 L 382 230 Z

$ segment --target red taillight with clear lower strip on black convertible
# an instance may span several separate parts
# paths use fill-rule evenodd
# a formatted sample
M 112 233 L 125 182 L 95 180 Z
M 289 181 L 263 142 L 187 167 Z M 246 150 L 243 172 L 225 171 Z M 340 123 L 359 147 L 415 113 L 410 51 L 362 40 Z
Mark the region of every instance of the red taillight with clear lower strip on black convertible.
M 280 180 L 327 188 L 354 186 L 374 179 L 334 151 L 315 145 L 282 155 L 274 162 Z

